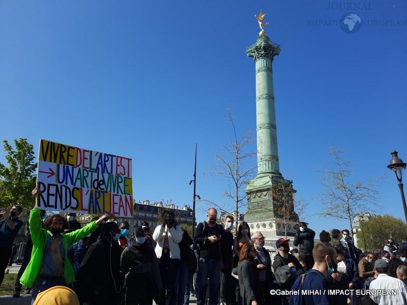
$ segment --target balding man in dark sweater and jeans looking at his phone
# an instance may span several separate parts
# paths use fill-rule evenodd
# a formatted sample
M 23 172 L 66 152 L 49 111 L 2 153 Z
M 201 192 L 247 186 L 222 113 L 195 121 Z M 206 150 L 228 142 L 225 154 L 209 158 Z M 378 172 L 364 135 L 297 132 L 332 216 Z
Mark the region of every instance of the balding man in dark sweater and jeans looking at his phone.
M 209 278 L 209 304 L 218 303 L 220 282 L 220 241 L 224 232 L 223 227 L 216 223 L 218 211 L 215 208 L 208 209 L 208 219 L 199 223 L 195 230 L 195 243 L 199 247 L 198 261 L 198 297 L 197 305 L 204 305 L 208 278 Z

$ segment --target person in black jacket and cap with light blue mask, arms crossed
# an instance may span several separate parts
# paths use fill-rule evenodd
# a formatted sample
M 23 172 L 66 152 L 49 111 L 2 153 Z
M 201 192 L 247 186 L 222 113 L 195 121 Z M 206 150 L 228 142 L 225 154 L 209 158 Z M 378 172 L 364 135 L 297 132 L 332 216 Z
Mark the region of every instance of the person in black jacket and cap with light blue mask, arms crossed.
M 153 287 L 156 287 L 157 295 L 161 295 L 159 261 L 142 228 L 136 229 L 134 242 L 123 250 L 120 266 L 125 275 L 125 305 L 151 305 Z

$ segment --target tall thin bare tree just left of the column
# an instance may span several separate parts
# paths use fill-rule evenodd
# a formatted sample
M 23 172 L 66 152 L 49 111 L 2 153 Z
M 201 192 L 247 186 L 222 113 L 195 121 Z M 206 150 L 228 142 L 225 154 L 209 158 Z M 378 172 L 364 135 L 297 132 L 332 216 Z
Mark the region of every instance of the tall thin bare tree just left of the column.
M 228 181 L 228 190 L 223 196 L 231 199 L 234 206 L 228 204 L 220 206 L 210 200 L 204 200 L 216 206 L 226 214 L 235 216 L 236 228 L 239 223 L 239 210 L 247 204 L 247 194 L 243 187 L 248 179 L 255 174 L 256 167 L 245 166 L 245 161 L 256 155 L 256 151 L 246 151 L 247 145 L 252 141 L 251 131 L 246 132 L 240 139 L 236 133 L 235 119 L 231 115 L 230 108 L 227 109 L 226 120 L 232 126 L 232 137 L 229 137 L 227 144 L 223 145 L 224 153 L 216 154 L 216 164 L 212 165 L 212 173 L 222 176 Z M 242 214 L 241 214 L 242 215 Z

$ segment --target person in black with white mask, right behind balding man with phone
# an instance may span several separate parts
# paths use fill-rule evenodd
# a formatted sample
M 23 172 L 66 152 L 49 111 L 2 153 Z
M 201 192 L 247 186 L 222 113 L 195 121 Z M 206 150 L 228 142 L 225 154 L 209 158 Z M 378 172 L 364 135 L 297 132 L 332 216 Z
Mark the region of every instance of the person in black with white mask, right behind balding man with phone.
M 233 228 L 234 217 L 227 215 L 225 217 L 224 232 L 222 241 L 220 243 L 220 254 L 222 256 L 223 268 L 221 269 L 222 275 L 220 280 L 220 303 L 234 304 L 236 297 L 234 291 L 236 290 L 236 281 L 231 276 L 233 265 Z

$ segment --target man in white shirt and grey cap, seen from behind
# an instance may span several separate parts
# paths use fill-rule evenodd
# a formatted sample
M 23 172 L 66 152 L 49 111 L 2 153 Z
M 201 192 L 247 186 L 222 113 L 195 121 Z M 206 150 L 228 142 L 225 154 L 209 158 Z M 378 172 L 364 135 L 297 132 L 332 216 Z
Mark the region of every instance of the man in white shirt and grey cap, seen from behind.
M 396 294 L 371 294 L 370 298 L 379 305 L 405 305 L 407 304 L 407 287 L 405 284 L 396 278 L 389 277 L 387 271 L 389 265 L 383 259 L 378 259 L 374 262 L 374 273 L 377 279 L 370 283 L 370 290 L 395 290 Z

